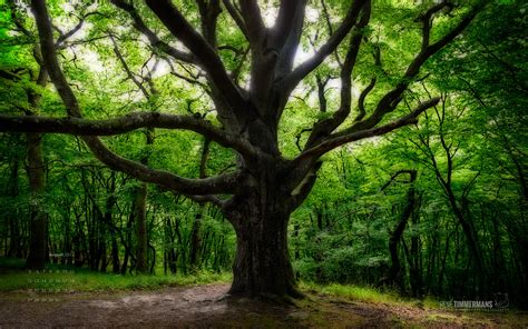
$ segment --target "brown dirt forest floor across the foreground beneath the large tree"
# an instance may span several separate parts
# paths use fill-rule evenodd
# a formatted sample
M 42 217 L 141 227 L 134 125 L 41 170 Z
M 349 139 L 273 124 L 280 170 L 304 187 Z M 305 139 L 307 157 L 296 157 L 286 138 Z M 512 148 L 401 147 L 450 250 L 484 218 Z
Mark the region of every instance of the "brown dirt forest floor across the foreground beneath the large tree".
M 228 285 L 0 292 L 0 328 L 528 328 L 527 312 L 463 312 L 317 291 L 295 306 L 226 298 Z

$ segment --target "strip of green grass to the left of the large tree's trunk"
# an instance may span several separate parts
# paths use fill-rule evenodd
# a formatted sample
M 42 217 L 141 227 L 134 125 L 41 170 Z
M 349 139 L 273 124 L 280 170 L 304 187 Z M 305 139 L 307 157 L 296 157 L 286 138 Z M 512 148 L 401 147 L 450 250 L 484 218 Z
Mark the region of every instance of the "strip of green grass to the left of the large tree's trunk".
M 196 275 L 114 275 L 88 269 L 48 265 L 45 271 L 23 270 L 23 260 L 0 259 L 0 291 L 53 290 L 61 292 L 156 289 L 170 286 L 226 283 L 228 272 Z

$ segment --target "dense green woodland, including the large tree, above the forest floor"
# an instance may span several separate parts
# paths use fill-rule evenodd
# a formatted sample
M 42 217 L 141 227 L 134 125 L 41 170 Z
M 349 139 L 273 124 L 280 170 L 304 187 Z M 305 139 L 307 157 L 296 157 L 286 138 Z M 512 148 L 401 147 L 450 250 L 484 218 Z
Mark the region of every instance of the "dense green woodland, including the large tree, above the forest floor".
M 1 257 L 528 305 L 525 1 L 0 6 Z

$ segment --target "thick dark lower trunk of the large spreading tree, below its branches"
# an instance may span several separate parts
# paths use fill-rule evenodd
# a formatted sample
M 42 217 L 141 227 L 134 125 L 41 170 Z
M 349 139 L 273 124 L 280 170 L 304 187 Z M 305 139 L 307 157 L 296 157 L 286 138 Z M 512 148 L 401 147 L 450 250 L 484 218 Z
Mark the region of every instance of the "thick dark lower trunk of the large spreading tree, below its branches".
M 234 202 L 233 210 L 224 209 L 236 232 L 229 293 L 300 298 L 287 249 L 287 223 L 294 207 L 281 196 L 280 176 L 270 172 L 274 170 L 262 170 L 257 188 Z

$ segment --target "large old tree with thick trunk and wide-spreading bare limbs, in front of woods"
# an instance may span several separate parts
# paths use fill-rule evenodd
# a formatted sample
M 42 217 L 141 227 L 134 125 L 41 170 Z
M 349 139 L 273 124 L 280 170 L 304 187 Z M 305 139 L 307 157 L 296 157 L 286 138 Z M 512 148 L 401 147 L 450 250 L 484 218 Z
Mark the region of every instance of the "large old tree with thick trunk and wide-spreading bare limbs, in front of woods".
M 216 205 L 233 225 L 237 237 L 231 292 L 299 297 L 289 259 L 287 223 L 290 215 L 310 193 L 322 163 L 321 157 L 345 143 L 415 123 L 420 113 L 436 106 L 439 99 L 432 98 L 418 103 L 408 113 L 398 114 L 397 110 L 408 88 L 415 80 L 423 79 L 419 77 L 422 64 L 459 36 L 485 2 L 457 6 L 451 1 L 436 1 L 429 6 L 419 6 L 421 13 L 410 18 L 408 24 L 409 30 L 419 31 L 415 36 L 420 40 L 410 61 L 398 63 L 397 67 L 403 68 L 401 73 L 398 77 L 393 74 L 391 79 L 384 77 L 383 83 L 377 84 L 377 76 L 387 76 L 382 68 L 379 70 L 381 73 L 372 73 L 372 77 L 370 72 L 363 74 L 362 79 L 364 76 L 372 79 L 354 106 L 352 83 L 353 77 L 359 77 L 354 68 L 361 57 L 361 49 L 365 44 L 374 49 L 373 62 L 378 67 L 382 66 L 384 48 L 380 47 L 379 40 L 370 38 L 373 10 L 391 10 L 391 7 L 370 0 L 338 4 L 324 0 L 276 2 L 276 18 L 268 27 L 263 16 L 263 4 L 256 0 L 239 0 L 237 3 L 231 0 L 196 0 L 187 8 L 169 0 L 146 0 L 145 3 L 111 1 L 114 10 L 118 10 L 119 14 L 126 13 L 126 23 L 144 36 L 141 42 L 146 40 L 157 56 L 198 72 L 193 78 L 176 72 L 174 76 L 207 92 L 216 114 L 217 123 L 213 123 L 201 116 L 169 114 L 159 110 L 111 119 L 84 119 L 78 96 L 59 63 L 49 8 L 43 0 L 32 0 L 31 10 L 38 28 L 42 66 L 68 117 L 0 114 L 0 131 L 81 136 L 95 157 L 111 169 L 186 195 L 196 201 Z M 267 6 L 270 11 L 274 4 Z M 314 40 L 316 38 L 311 38 L 313 36 L 306 36 L 306 30 L 310 30 L 307 8 L 325 18 L 326 24 L 320 26 L 320 29 L 325 30 L 321 32 L 324 38 Z M 341 12 L 342 17 L 338 23 L 333 23 L 331 16 L 336 12 Z M 415 11 L 411 11 L 410 16 L 412 13 Z M 436 29 L 433 24 L 438 17 L 442 17 L 441 29 Z M 222 24 L 218 23 L 221 19 Z M 153 27 L 159 22 L 165 32 L 160 32 L 158 26 Z M 244 37 L 242 50 L 229 47 L 228 40 L 219 43 L 219 31 L 233 30 L 233 26 Z M 160 37 L 167 31 L 170 41 L 165 41 L 166 36 Z M 306 39 L 316 49 L 312 57 L 294 64 L 297 49 Z M 175 40 L 179 43 L 175 43 Z M 238 64 L 231 66 L 232 69 L 227 69 L 226 57 L 222 54 L 226 49 L 231 49 L 238 59 Z M 366 57 L 363 54 L 362 58 Z M 334 64 L 329 66 L 329 62 Z M 303 129 L 310 134 L 304 146 L 300 147 L 301 151 L 295 157 L 285 157 L 280 149 L 281 119 L 292 101 L 294 90 L 307 83 L 312 73 L 325 66 L 338 68 L 333 70 L 339 76 L 339 104 L 334 111 L 326 112 L 324 84 L 327 79 L 322 77 L 324 70 L 317 71 L 320 106 L 325 113 L 312 127 Z M 372 92 L 374 89 L 375 98 Z M 236 170 L 208 178 L 184 178 L 140 161 L 125 159 L 99 138 L 139 128 L 188 130 L 202 134 L 234 152 Z

